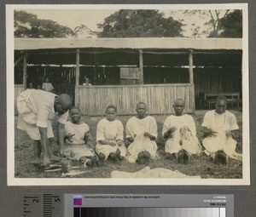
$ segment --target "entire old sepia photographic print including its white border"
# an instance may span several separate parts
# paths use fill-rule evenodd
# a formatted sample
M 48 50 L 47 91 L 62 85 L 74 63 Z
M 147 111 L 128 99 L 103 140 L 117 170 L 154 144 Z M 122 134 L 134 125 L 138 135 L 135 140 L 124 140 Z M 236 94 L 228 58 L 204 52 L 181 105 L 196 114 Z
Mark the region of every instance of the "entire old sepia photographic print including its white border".
M 247 4 L 6 18 L 9 186 L 250 185 Z

